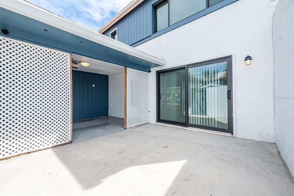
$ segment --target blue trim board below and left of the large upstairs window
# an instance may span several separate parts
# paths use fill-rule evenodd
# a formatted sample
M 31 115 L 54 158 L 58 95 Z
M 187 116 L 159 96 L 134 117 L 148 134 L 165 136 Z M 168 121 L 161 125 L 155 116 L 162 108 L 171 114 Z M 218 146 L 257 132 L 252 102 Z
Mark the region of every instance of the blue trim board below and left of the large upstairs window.
M 173 24 L 171 26 L 168 26 L 167 28 L 165 28 L 165 29 L 163 29 L 161 31 L 156 32 L 156 33 L 154 33 L 154 28 L 152 28 L 153 29 L 152 32 L 154 34 L 152 34 L 152 35 L 150 35 L 150 36 L 148 36 L 148 37 L 146 37 L 146 38 L 144 38 L 144 39 L 142 39 L 142 40 L 140 40 L 140 41 L 138 41 L 136 43 L 133 43 L 130 46 L 132 46 L 132 47 L 138 46 L 138 45 L 140 45 L 140 44 L 142 44 L 142 43 L 144 43 L 146 41 L 149 41 L 149 40 L 151 40 L 153 38 L 161 36 L 162 34 L 167 33 L 168 31 L 171 31 L 171 30 L 176 29 L 176 28 L 178 28 L 180 26 L 183 26 L 184 24 L 187 24 L 187 23 L 189 23 L 189 22 L 191 22 L 193 20 L 196 20 L 198 18 L 201 18 L 202 16 L 210 14 L 211 12 L 214 12 L 214 11 L 216 11 L 216 10 L 218 10 L 220 8 L 223 8 L 223 7 L 225 7 L 225 6 L 229 5 L 229 4 L 232 4 L 232 3 L 236 2 L 236 1 L 239 1 L 239 0 L 223 0 L 223 1 L 220 1 L 217 4 L 214 4 L 211 7 L 208 7 L 206 9 L 202 10 L 202 11 L 199 11 L 196 14 L 193 14 L 192 16 L 189 16 L 188 18 L 185 18 L 185 19 L 183 19 L 183 20 L 181 20 L 181 21 L 179 21 L 179 22 L 177 22 L 177 23 L 175 23 L 175 24 Z M 158 1 L 158 2 L 160 2 L 160 1 Z M 158 2 L 154 3 L 152 6 L 158 4 Z M 152 10 L 154 10 L 154 9 L 152 9 Z M 152 14 L 153 14 L 152 15 L 152 21 L 153 21 L 154 20 L 154 18 L 153 18 L 154 17 L 154 11 L 152 11 Z

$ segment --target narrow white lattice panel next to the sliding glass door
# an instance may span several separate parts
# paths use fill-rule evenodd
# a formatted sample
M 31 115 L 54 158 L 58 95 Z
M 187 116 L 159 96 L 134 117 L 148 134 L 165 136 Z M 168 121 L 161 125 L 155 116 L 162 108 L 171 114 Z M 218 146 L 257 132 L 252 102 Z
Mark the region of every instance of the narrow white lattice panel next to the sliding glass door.
M 127 128 L 149 122 L 149 73 L 127 68 Z

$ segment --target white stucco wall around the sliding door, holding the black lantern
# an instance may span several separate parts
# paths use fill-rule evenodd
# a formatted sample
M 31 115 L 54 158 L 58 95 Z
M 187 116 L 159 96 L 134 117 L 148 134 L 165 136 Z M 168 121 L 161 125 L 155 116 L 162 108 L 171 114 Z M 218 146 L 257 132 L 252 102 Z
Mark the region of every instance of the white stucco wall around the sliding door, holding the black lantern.
M 274 7 L 269 0 L 240 0 L 153 38 L 136 48 L 167 63 L 150 73 L 150 122 L 156 122 L 158 69 L 233 56 L 234 136 L 275 141 L 273 128 Z M 246 66 L 245 56 L 253 58 Z

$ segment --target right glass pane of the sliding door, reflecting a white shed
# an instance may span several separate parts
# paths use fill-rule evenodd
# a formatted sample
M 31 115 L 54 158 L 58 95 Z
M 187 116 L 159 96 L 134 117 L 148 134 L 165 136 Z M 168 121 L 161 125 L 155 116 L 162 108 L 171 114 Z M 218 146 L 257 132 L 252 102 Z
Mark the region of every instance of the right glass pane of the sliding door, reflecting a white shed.
M 228 63 L 188 68 L 188 124 L 228 129 Z

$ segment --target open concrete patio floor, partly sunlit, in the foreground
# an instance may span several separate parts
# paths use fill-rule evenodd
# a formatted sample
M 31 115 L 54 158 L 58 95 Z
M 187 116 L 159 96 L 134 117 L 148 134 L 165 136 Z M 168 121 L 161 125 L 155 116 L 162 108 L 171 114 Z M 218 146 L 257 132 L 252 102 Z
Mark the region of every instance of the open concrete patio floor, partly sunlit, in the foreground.
M 1 195 L 294 195 L 275 144 L 154 124 L 0 168 Z

